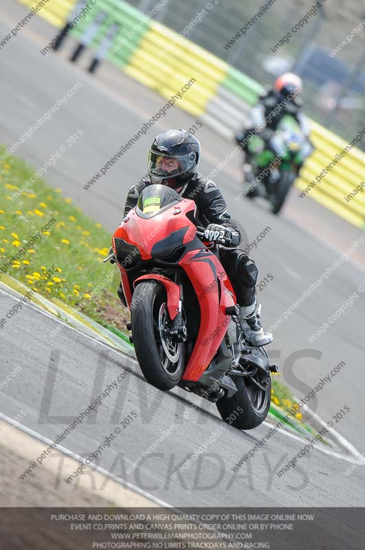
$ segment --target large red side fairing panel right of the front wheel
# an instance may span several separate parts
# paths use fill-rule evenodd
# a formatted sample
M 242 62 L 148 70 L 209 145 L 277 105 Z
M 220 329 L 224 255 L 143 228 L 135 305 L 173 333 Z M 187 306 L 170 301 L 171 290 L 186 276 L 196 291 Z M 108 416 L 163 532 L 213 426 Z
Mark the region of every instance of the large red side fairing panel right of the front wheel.
M 236 296 L 219 259 L 209 250 L 188 252 L 179 265 L 190 278 L 200 306 L 197 342 L 182 377 L 182 380 L 197 382 L 221 345 L 230 322 L 225 308 L 236 304 Z

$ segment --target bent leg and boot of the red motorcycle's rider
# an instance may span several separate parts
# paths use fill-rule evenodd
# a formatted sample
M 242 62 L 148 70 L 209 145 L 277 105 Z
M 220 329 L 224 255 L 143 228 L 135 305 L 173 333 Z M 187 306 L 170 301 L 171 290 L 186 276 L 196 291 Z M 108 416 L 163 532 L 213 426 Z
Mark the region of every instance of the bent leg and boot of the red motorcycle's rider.
M 254 261 L 238 248 L 220 248 L 221 263 L 228 274 L 240 307 L 241 327 L 245 337 L 254 346 L 272 342 L 272 333 L 264 331 L 259 320 L 256 298 L 258 269 Z

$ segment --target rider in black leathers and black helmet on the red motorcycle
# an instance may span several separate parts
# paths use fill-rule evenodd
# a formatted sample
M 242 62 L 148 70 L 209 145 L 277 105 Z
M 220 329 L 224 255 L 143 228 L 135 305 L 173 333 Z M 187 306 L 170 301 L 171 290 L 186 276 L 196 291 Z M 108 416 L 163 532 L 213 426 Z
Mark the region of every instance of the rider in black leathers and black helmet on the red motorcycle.
M 150 180 L 142 179 L 131 187 L 124 216 L 136 206 L 140 192 L 148 185 L 167 185 L 182 197 L 194 200 L 197 223 L 205 229 L 207 241 L 224 238 L 230 242 L 228 247 L 219 246 L 219 258 L 236 294 L 245 337 L 254 346 L 269 344 L 273 340 L 272 333 L 264 331 L 259 320 L 260 307 L 256 299 L 258 269 L 254 261 L 236 248 L 241 242 L 241 234 L 228 214 L 217 185 L 197 173 L 200 157 L 200 143 L 188 131 L 179 129 L 159 133 L 148 156 Z M 118 296 L 122 302 L 125 300 L 121 285 Z

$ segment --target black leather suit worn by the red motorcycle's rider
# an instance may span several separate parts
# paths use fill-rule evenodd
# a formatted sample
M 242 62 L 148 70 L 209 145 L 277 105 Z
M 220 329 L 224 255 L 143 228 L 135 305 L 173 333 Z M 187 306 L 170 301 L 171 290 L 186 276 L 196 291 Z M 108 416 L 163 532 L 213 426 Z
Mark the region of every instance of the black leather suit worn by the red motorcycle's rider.
M 148 185 L 152 185 L 151 181 L 142 179 L 131 187 L 126 197 L 124 216 L 136 206 L 140 192 Z M 230 248 L 219 247 L 219 256 L 236 293 L 237 303 L 241 306 L 251 305 L 256 298 L 258 270 L 256 264 L 242 250 L 234 248 L 241 243 L 241 232 L 228 213 L 221 191 L 211 179 L 194 174 L 182 196 L 195 201 L 197 225 L 206 228 L 210 223 L 219 223 L 238 232 L 239 236 Z

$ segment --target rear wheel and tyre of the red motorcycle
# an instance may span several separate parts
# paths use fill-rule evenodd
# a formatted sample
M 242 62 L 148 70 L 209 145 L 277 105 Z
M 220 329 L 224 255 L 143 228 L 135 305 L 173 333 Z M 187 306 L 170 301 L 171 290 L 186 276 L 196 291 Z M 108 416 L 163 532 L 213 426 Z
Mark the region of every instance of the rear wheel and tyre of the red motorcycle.
M 222 397 L 217 401 L 217 408 L 223 420 L 239 430 L 257 428 L 269 412 L 272 381 L 269 375 L 265 391 L 258 388 L 250 378 L 233 377 L 237 390 L 232 397 Z M 245 382 L 246 381 L 246 382 Z

